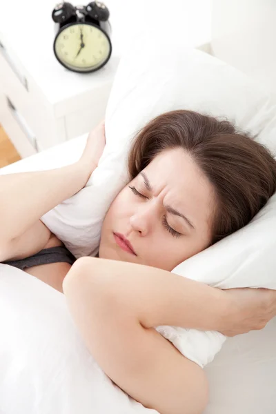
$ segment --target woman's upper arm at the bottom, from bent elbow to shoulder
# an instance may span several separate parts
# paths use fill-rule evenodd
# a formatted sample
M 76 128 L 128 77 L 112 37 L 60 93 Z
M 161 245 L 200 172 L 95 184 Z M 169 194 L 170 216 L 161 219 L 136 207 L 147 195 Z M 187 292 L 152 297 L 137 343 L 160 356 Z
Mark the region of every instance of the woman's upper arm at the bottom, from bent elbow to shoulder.
M 144 328 L 132 308 L 110 297 L 99 262 L 115 264 L 79 259 L 63 281 L 70 313 L 90 353 L 117 386 L 144 406 L 161 414 L 202 413 L 208 401 L 204 371 L 154 328 Z

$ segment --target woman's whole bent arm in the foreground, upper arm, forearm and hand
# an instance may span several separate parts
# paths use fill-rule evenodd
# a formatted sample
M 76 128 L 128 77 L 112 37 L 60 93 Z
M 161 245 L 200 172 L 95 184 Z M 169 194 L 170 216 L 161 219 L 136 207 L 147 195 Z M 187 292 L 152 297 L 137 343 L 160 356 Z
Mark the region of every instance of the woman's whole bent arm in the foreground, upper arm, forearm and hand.
M 208 386 L 204 371 L 152 326 L 223 326 L 237 334 L 263 327 L 259 321 L 276 313 L 273 291 L 222 291 L 165 270 L 92 257 L 73 264 L 63 293 L 103 371 L 161 414 L 201 413 Z

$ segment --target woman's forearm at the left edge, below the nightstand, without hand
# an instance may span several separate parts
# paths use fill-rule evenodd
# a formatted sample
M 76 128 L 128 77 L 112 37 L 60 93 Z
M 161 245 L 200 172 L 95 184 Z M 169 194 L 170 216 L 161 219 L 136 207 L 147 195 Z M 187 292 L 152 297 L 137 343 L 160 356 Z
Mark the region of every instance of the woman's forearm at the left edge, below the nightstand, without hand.
M 42 215 L 75 195 L 88 181 L 77 162 L 55 170 L 0 175 L 1 242 L 20 237 Z

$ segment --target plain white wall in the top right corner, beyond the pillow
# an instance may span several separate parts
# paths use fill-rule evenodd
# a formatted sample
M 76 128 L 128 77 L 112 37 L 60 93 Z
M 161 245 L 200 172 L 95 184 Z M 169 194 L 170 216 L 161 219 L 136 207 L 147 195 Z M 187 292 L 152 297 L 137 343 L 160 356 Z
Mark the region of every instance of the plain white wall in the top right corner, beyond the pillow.
M 276 1 L 213 0 L 212 49 L 276 94 Z

